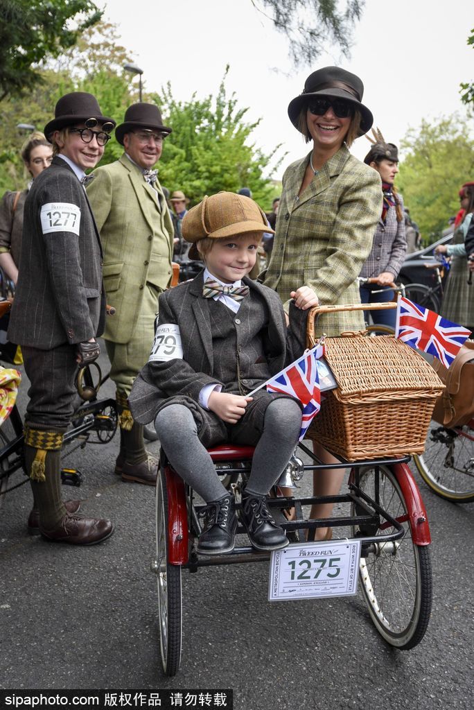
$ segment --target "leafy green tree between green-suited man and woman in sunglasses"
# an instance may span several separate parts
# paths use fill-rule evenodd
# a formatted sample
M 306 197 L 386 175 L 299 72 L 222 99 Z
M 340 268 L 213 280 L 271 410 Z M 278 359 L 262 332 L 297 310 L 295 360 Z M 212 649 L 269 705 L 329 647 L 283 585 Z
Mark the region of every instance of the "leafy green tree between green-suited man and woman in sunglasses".
M 192 204 L 219 190 L 237 192 L 250 187 L 253 197 L 266 206 L 275 194 L 272 182 L 264 177 L 280 146 L 265 155 L 251 143 L 251 134 L 260 119 L 246 123 L 248 109 L 239 108 L 236 94 L 226 94 L 226 75 L 215 97 L 189 102 L 173 97 L 170 84 L 151 95 L 161 107 L 165 125 L 173 132 L 166 138 L 160 159 L 160 182 L 169 190 L 183 190 Z M 285 156 L 277 160 L 272 173 Z

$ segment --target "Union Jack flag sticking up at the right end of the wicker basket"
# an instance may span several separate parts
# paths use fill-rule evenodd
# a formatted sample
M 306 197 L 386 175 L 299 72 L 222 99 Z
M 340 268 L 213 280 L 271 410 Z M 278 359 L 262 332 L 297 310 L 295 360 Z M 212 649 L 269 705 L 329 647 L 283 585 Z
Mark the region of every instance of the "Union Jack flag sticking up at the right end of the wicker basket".
M 462 325 L 451 323 L 428 308 L 399 296 L 395 337 L 410 347 L 434 355 L 449 367 L 469 336 L 470 330 Z

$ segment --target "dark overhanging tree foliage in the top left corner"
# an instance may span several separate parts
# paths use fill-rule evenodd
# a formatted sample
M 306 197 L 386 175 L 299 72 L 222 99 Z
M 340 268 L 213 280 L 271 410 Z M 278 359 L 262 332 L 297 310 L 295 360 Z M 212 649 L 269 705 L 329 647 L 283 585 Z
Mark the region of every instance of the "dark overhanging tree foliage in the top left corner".
M 0 101 L 41 82 L 40 63 L 72 47 L 101 15 L 91 0 L 0 0 Z

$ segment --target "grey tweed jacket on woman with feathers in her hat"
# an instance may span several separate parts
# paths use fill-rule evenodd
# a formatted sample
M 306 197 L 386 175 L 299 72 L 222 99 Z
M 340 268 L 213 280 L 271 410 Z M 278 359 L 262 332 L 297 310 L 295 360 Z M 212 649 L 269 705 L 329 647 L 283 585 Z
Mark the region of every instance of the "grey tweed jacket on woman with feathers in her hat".
M 397 195 L 397 197 L 403 214 L 402 195 Z M 397 222 L 397 210 L 390 206 L 387 209 L 385 224 L 382 219 L 378 221 L 372 249 L 360 275 L 370 278 L 370 276 L 378 276 L 382 271 L 390 271 L 394 278 L 397 278 L 406 253 L 407 239 L 405 238 L 404 220 Z

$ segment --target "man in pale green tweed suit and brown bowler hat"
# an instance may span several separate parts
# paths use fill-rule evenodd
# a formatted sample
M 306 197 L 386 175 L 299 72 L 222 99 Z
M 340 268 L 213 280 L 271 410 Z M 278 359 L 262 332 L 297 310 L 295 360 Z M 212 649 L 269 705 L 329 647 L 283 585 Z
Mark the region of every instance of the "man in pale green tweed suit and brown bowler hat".
M 87 190 L 104 249 L 107 301 L 116 307 L 104 333 L 120 423 L 115 472 L 150 486 L 158 461 L 145 451 L 143 427 L 133 421 L 127 398 L 148 361 L 158 296 L 172 275 L 174 230 L 158 170 L 152 170 L 169 133 L 155 104 L 133 104 L 115 133 L 123 155 L 99 168 Z

